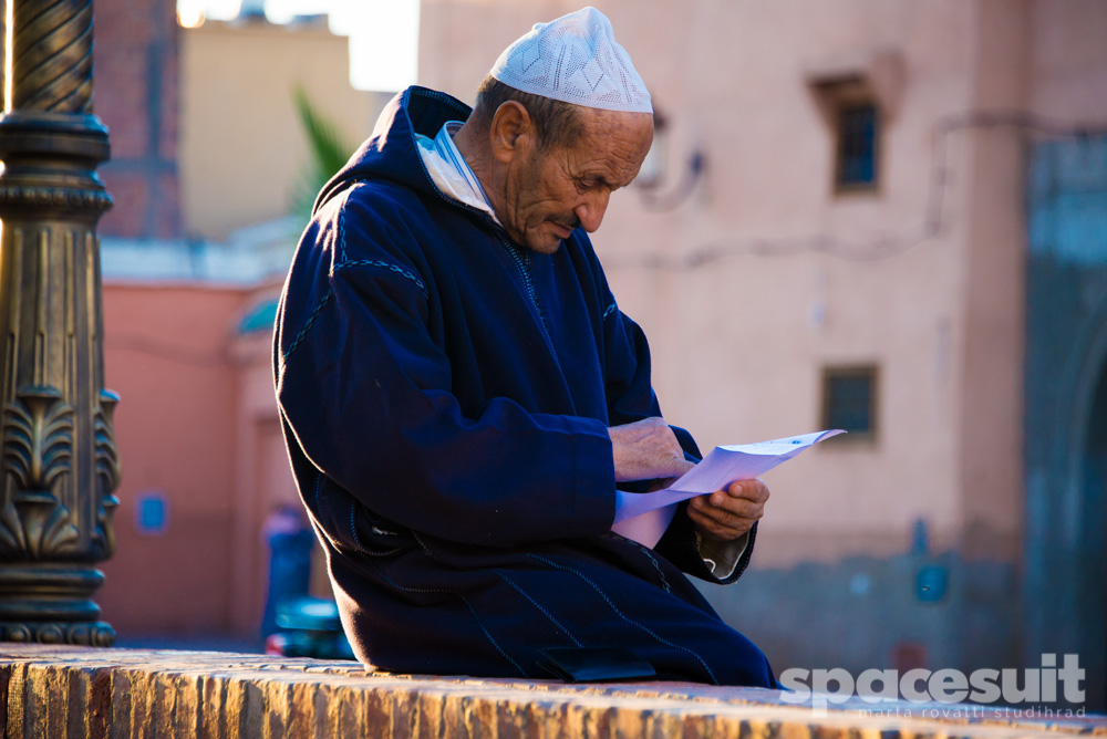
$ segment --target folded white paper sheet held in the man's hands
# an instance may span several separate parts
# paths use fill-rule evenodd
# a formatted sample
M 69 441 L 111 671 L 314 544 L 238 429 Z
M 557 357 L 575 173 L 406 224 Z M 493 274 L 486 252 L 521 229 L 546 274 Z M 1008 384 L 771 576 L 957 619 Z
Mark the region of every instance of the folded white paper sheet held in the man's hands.
M 785 439 L 715 447 L 703 461 L 664 490 L 615 490 L 615 522 L 611 530 L 640 544 L 653 547 L 673 520 L 676 503 L 723 490 L 735 480 L 752 480 L 804 449 L 838 434 L 845 431 L 836 428 Z

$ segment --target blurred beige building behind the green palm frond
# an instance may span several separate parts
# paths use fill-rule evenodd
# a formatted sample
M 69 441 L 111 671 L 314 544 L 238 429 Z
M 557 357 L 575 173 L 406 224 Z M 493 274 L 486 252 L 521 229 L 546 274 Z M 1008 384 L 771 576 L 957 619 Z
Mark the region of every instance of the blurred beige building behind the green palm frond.
M 386 95 L 350 86 L 349 42 L 325 23 L 209 21 L 180 31 L 185 233 L 223 239 L 290 211 L 308 169 L 293 90 L 355 147 Z

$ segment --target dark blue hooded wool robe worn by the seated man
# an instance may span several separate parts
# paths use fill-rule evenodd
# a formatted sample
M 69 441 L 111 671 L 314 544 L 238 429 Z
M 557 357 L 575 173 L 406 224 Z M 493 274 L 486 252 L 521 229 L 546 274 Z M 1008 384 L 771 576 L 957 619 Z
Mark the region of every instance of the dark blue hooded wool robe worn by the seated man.
M 609 531 L 607 427 L 661 415 L 645 336 L 581 229 L 532 253 L 432 184 L 415 132 L 468 113 L 393 100 L 320 194 L 281 299 L 284 437 L 355 653 L 545 677 L 540 648 L 621 646 L 663 678 L 774 685 L 681 574 L 718 582 L 683 509 L 655 550 Z

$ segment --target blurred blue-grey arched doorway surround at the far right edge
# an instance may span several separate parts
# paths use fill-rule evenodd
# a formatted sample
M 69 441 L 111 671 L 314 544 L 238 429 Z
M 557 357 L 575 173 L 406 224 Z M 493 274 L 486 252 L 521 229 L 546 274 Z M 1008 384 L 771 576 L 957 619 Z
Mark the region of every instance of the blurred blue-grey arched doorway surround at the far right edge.
M 1107 710 L 1107 136 L 1037 143 L 1028 181 L 1022 663 L 1079 655 Z

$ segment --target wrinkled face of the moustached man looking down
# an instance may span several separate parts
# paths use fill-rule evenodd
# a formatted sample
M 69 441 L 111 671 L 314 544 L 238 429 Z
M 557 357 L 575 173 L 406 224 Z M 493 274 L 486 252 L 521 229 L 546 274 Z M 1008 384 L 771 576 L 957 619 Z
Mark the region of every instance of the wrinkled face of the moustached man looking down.
M 653 142 L 653 116 L 581 108 L 581 135 L 567 147 L 527 147 L 507 175 L 504 212 L 508 235 L 551 254 L 572 229 L 600 227 L 611 192 L 630 185 Z

